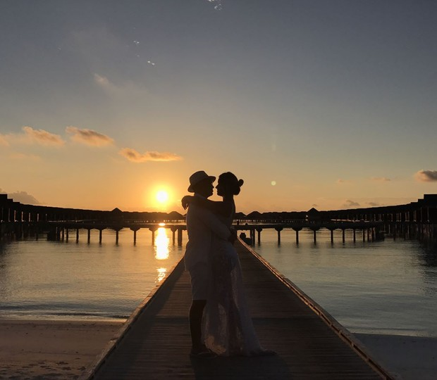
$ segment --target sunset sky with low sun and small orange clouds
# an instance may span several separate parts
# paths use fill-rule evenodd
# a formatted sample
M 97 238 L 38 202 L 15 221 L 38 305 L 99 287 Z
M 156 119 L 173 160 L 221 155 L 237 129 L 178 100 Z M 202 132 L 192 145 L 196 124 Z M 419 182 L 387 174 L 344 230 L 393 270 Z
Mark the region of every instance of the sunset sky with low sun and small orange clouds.
M 0 36 L 14 201 L 183 212 L 197 170 L 242 213 L 437 193 L 434 0 L 0 0 Z

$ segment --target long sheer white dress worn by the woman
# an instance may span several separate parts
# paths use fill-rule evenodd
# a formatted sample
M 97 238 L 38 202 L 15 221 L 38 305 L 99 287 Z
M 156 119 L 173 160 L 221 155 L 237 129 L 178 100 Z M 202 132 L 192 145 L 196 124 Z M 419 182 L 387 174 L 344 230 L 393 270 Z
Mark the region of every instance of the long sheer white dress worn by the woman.
M 230 227 L 234 213 L 235 206 L 230 217 L 219 218 Z M 223 356 L 263 355 L 266 350 L 254 330 L 233 244 L 213 236 L 209 259 L 209 296 L 202 329 L 205 345 Z

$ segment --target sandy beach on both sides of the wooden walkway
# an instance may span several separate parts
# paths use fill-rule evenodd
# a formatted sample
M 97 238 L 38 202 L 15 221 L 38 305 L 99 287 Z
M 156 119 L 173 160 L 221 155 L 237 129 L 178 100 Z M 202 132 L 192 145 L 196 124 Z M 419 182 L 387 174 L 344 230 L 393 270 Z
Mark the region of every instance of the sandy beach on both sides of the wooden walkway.
M 78 379 L 124 321 L 0 319 L 0 379 Z M 437 337 L 354 334 L 403 380 L 437 378 Z

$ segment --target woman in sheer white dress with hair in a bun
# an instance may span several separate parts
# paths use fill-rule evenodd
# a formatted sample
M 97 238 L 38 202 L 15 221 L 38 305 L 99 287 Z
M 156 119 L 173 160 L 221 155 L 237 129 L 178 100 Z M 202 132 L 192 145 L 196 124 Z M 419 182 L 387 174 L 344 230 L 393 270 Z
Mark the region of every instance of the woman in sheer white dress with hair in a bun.
M 185 196 L 183 206 L 196 203 L 209 208 L 230 227 L 235 215 L 234 196 L 240 194 L 242 184 L 243 180 L 233 173 L 223 173 L 216 186 L 223 201 Z M 209 296 L 203 329 L 207 348 L 223 356 L 272 354 L 273 351 L 264 350 L 259 344 L 244 295 L 240 260 L 232 243 L 213 237 L 209 270 Z

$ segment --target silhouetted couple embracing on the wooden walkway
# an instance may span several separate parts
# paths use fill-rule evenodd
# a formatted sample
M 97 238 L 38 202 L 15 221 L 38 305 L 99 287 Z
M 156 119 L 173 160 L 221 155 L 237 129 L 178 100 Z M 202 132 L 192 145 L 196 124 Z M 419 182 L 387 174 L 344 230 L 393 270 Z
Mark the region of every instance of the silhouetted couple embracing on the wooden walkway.
M 234 196 L 243 184 L 231 172 L 219 176 L 217 195 L 211 201 L 216 177 L 204 171 L 190 177 L 182 198 L 187 210 L 188 242 L 185 268 L 190 272 L 192 304 L 190 333 L 192 357 L 266 355 L 261 347 L 245 300 L 240 260 L 231 232 L 235 215 Z

